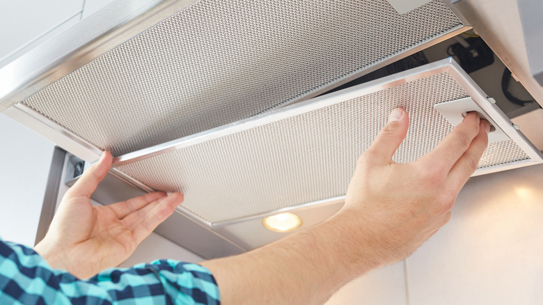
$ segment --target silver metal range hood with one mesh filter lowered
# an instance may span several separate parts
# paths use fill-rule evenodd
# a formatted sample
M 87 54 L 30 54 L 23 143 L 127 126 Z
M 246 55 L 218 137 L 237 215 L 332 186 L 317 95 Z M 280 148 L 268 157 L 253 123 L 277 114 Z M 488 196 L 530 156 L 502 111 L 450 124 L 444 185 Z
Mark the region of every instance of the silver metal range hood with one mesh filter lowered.
M 404 14 L 386 0 L 116 0 L 0 70 L 0 111 L 87 162 L 110 150 L 129 187 L 182 191 L 158 231 L 212 258 L 285 235 L 262 217 L 336 212 L 395 107 L 411 118 L 397 162 L 473 110 L 496 128 L 476 174 L 542 162 L 450 58 L 315 97 L 468 27 L 441 0 Z M 182 224 L 228 245 L 180 242 Z

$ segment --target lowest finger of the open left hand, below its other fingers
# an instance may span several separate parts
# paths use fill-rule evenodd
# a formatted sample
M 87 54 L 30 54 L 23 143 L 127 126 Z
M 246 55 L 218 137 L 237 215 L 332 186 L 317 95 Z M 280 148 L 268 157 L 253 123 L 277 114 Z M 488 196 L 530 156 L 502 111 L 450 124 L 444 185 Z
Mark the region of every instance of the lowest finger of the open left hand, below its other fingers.
M 155 230 L 159 224 L 170 217 L 175 207 L 180 205 L 183 199 L 183 194 L 173 193 L 141 209 L 138 213 L 140 217 L 130 226 L 136 243 L 139 244 L 145 237 L 148 237 L 152 230 Z

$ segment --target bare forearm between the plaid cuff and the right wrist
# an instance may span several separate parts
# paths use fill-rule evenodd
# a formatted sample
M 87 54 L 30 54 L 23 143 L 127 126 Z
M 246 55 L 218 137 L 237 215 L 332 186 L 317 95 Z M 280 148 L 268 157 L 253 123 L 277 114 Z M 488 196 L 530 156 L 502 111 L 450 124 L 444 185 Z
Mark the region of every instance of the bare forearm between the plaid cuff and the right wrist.
M 336 215 L 309 228 L 230 258 L 202 265 L 215 276 L 223 304 L 322 304 L 341 286 L 377 267 L 363 241 Z

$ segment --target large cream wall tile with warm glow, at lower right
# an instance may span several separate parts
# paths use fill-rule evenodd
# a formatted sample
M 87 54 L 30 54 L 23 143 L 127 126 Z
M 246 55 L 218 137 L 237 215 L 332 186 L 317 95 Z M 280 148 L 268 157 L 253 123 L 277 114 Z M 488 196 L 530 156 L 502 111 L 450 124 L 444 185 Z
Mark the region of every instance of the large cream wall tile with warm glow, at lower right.
M 472 178 L 407 264 L 410 305 L 543 304 L 543 164 Z

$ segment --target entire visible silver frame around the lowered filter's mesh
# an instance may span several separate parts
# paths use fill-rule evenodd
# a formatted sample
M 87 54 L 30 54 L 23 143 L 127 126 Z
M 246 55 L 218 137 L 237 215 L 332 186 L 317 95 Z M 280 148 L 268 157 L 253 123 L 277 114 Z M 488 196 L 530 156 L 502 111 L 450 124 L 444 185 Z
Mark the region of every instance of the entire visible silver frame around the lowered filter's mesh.
M 182 148 L 189 148 L 191 146 L 196 146 L 200 143 L 205 143 L 207 141 L 212 141 L 214 139 L 219 139 L 223 136 L 229 136 L 231 134 L 236 134 L 238 132 L 244 132 L 246 130 L 251 130 L 253 128 L 260 127 L 269 123 L 274 123 L 279 120 L 284 120 L 287 118 L 292 118 L 300 114 L 306 114 L 309 111 L 316 109 L 322 109 L 333 104 L 338 104 L 344 102 L 345 100 L 351 100 L 354 97 L 359 97 L 361 95 L 368 95 L 375 93 L 377 91 L 384 90 L 386 88 L 392 88 L 402 84 L 407 84 L 411 81 L 417 81 L 420 79 L 425 79 L 427 77 L 432 77 L 434 75 L 439 75 L 443 72 L 448 73 L 458 84 L 464 88 L 464 90 L 469 94 L 475 103 L 485 112 L 485 114 L 494 120 L 496 125 L 500 127 L 507 136 L 514 141 L 524 153 L 530 157 L 530 159 L 525 159 L 517 162 L 508 162 L 505 164 L 498 164 L 494 166 L 487 166 L 485 168 L 478 169 L 475 171 L 473 176 L 482 175 L 486 173 L 494 173 L 496 171 L 503 171 L 506 169 L 514 169 L 517 167 L 528 166 L 543 162 L 542 153 L 533 146 L 526 136 L 521 133 L 521 131 L 511 123 L 509 118 L 503 114 L 503 112 L 496 106 L 492 104 L 492 99 L 489 99 L 487 95 L 482 91 L 482 89 L 475 84 L 475 82 L 469 77 L 459 67 L 459 65 L 452 59 L 446 58 L 435 63 L 430 63 L 419 68 L 414 68 L 408 71 L 400 72 L 395 75 L 384 77 L 382 79 L 377 79 L 375 81 L 370 81 L 359 86 L 354 86 L 352 88 L 344 89 L 343 91 L 337 91 L 330 93 L 329 95 L 323 95 L 321 97 L 316 97 L 312 100 L 307 100 L 297 104 L 292 104 L 281 109 L 276 109 L 266 114 L 260 114 L 253 118 L 248 118 L 246 120 L 241 120 L 229 125 L 224 125 L 222 127 L 214 128 L 213 130 L 207 130 L 205 132 L 200 132 L 198 134 L 193 134 L 191 136 L 186 136 L 181 139 L 174 141 L 169 141 L 157 146 L 150 148 L 145 148 L 143 150 L 136 151 L 134 153 L 129 153 L 123 156 L 116 157 L 113 161 L 113 167 L 118 168 L 119 166 L 132 164 L 134 162 L 139 162 L 141 160 L 149 159 L 152 157 L 157 157 L 171 153 L 175 150 L 180 150 Z M 444 101 L 443 101 L 444 102 Z M 226 221 L 208 221 L 203 219 L 203 217 L 198 216 L 191 210 L 188 210 L 184 207 L 179 207 L 178 210 L 182 211 L 183 214 L 187 214 L 193 219 L 196 219 L 202 224 L 210 228 L 217 228 L 221 231 L 227 231 L 226 227 L 239 224 L 248 219 L 258 219 L 264 215 L 276 214 L 279 212 L 289 212 L 296 211 L 300 208 L 308 209 L 314 208 L 319 209 L 329 205 L 331 202 L 338 202 L 343 200 L 343 196 L 329 198 L 329 200 L 320 200 L 315 202 L 308 202 L 301 205 L 293 205 L 287 208 L 279 208 L 277 210 L 272 210 L 258 215 L 250 215 L 249 217 L 241 217 L 239 219 L 226 220 Z

